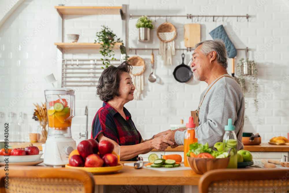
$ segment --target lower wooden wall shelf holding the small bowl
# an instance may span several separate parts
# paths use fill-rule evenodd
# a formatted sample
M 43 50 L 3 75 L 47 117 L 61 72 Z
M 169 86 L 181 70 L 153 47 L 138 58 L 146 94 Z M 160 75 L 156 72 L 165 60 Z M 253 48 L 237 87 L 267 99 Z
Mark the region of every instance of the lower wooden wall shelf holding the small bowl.
M 117 42 L 114 44 L 114 49 L 119 48 L 122 43 Z M 101 43 L 54 43 L 57 48 L 63 53 L 63 49 L 98 49 Z

